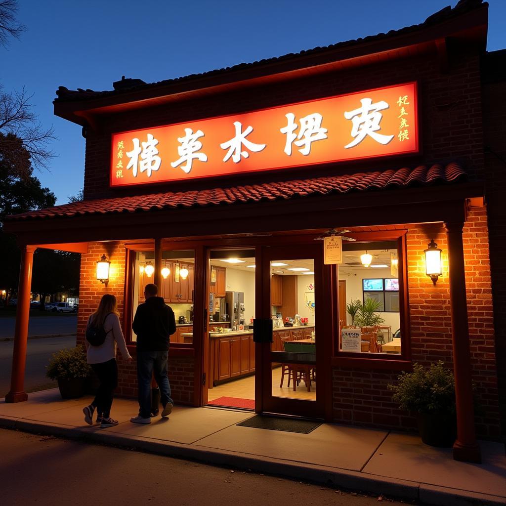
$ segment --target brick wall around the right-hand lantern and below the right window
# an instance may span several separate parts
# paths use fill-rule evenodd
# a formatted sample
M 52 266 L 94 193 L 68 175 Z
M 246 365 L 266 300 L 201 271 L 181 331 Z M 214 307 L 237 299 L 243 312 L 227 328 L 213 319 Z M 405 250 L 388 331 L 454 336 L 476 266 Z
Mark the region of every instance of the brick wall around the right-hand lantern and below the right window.
M 443 275 L 436 286 L 425 274 L 424 249 L 430 239 L 443 250 Z M 463 231 L 472 374 L 483 414 L 476 416 L 480 437 L 497 438 L 499 413 L 494 356 L 492 290 L 485 208 L 473 209 Z M 452 364 L 448 247 L 444 228 L 420 226 L 407 234 L 409 313 L 413 362 Z M 333 369 L 334 419 L 355 425 L 410 429 L 415 419 L 398 409 L 387 389 L 397 372 Z

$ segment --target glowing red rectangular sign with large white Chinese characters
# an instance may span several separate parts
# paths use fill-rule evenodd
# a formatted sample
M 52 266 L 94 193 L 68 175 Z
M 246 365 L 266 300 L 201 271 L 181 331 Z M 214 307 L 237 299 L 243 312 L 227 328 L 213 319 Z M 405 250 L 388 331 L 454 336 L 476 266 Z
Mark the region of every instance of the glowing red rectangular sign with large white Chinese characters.
M 418 151 L 416 84 L 112 136 L 111 186 Z

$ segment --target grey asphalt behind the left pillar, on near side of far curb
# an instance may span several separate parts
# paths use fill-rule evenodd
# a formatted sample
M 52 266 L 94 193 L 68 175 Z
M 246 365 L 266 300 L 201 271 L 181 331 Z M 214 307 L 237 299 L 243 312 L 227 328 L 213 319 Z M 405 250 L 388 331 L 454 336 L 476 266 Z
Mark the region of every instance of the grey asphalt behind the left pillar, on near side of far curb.
M 0 320 L 2 323 L 2 320 Z M 29 339 L 26 351 L 25 391 L 39 386 L 49 385 L 51 379 L 46 377 L 46 365 L 53 353 L 63 348 L 75 346 L 75 335 L 65 338 Z M 0 398 L 5 397 L 11 387 L 11 369 L 13 341 L 0 342 Z M 56 382 L 54 382 L 56 387 Z M 0 501 L 1 502 L 1 501 Z

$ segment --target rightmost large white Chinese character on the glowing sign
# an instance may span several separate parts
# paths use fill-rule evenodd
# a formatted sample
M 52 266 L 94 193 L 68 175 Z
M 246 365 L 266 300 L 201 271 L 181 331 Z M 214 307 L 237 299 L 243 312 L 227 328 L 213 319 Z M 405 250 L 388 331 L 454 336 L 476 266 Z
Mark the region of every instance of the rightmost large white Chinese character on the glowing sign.
M 345 118 L 352 120 L 351 136 L 354 138 L 345 148 L 353 148 L 360 144 L 366 136 L 370 136 L 379 144 L 388 144 L 394 136 L 378 134 L 377 131 L 381 129 L 379 123 L 383 118 L 383 114 L 379 111 L 388 109 L 390 106 L 383 100 L 373 104 L 370 98 L 363 98 L 360 103 L 362 107 L 345 112 Z

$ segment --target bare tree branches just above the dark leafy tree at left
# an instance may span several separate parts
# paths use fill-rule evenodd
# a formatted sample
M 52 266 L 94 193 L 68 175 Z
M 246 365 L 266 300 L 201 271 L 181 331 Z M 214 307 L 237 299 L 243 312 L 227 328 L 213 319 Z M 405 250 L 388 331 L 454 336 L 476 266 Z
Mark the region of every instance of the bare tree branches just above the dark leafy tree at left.
M 51 158 L 55 156 L 48 146 L 57 137 L 52 126 L 44 129 L 37 120 L 33 104 L 30 103 L 32 97 L 24 88 L 19 93 L 7 93 L 0 88 L 0 132 L 19 137 L 30 153 L 33 166 L 40 170 L 48 168 Z

